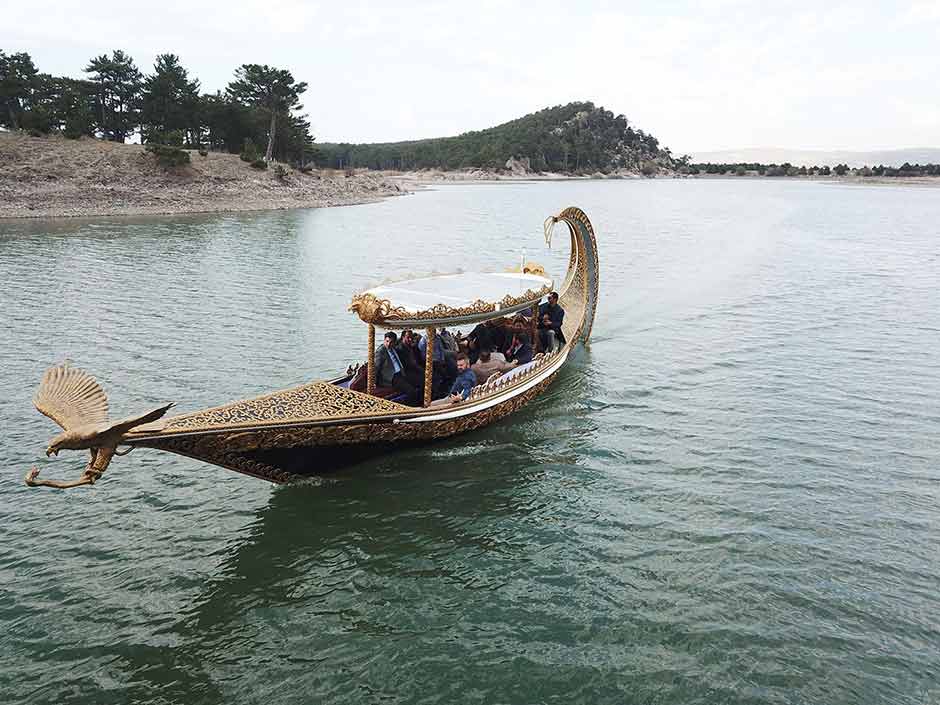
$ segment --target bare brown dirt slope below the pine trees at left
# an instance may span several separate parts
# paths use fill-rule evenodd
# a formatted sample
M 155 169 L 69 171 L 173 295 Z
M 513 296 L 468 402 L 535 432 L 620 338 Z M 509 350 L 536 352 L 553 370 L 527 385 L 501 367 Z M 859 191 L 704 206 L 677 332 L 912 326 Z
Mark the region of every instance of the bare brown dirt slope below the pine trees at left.
M 165 169 L 140 145 L 0 132 L 0 218 L 197 213 L 367 203 L 402 193 L 390 179 L 259 171 L 237 155 L 190 152 Z

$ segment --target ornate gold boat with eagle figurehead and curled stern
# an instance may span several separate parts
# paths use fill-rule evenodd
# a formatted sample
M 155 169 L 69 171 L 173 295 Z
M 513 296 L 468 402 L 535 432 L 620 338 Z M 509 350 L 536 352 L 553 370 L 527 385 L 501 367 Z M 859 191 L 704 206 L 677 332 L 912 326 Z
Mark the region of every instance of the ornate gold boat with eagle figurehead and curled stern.
M 534 329 L 539 303 L 554 286 L 540 268 L 429 277 L 375 287 L 354 296 L 350 310 L 368 326 L 367 386 L 362 392 L 349 388 L 354 374 L 350 369 L 333 380 L 202 411 L 163 418 L 171 406 L 166 405 L 111 422 L 107 419 L 107 397 L 94 378 L 67 366 L 51 368 L 34 402 L 64 431 L 52 439 L 46 453 L 86 449 L 91 459 L 76 481 L 39 480 L 39 471 L 33 469 L 26 482 L 59 488 L 94 484 L 114 455 L 134 448 L 155 448 L 283 483 L 370 452 L 491 424 L 540 394 L 555 379 L 571 350 L 591 335 L 598 291 L 594 229 L 584 212 L 567 208 L 545 221 L 549 244 L 557 223 L 564 223 L 571 236 L 568 271 L 558 287 L 559 303 L 565 310 L 562 332 L 566 342 L 536 354 L 531 363 L 494 375 L 474 387 L 465 401 L 431 404 L 433 344 L 426 345 L 423 406 L 406 406 L 377 395 L 376 329 L 416 329 L 430 342 L 444 327 L 475 325 L 519 313 L 532 314 L 529 320 Z

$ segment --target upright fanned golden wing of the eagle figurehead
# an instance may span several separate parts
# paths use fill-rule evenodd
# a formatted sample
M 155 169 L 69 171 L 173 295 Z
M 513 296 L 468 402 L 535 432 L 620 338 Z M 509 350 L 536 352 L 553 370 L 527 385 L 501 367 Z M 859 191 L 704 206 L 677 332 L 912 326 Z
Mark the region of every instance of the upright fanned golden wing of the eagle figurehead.
M 33 404 L 66 431 L 108 420 L 108 397 L 101 385 L 68 364 L 46 370 Z

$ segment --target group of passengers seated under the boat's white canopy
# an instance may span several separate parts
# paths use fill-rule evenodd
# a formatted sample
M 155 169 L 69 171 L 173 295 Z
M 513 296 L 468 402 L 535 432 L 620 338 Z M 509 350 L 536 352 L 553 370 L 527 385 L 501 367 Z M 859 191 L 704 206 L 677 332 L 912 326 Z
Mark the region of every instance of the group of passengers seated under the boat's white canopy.
M 549 294 L 539 307 L 537 332 L 542 350 L 564 345 L 561 331 L 565 311 L 558 294 Z M 517 314 L 511 326 L 491 319 L 477 325 L 469 335 L 452 335 L 446 329 L 434 334 L 431 342 L 432 404 L 451 404 L 467 399 L 470 391 L 497 372 L 508 372 L 532 361 L 534 349 L 529 339 L 531 319 Z M 388 331 L 375 352 L 375 381 L 378 387 L 391 387 L 404 396 L 404 403 L 420 406 L 424 399 L 427 336 L 406 330 L 401 338 Z

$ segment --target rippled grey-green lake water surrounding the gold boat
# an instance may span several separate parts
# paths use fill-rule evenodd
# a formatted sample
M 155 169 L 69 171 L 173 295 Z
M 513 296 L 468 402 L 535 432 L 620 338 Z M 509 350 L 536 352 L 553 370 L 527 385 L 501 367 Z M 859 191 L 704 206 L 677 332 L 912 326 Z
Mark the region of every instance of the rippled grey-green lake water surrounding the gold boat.
M 273 487 L 151 450 L 93 488 L 31 397 L 195 410 L 365 354 L 386 277 L 563 274 L 594 337 L 509 420 Z M 940 703 L 940 190 L 444 186 L 0 221 L 0 702 Z

